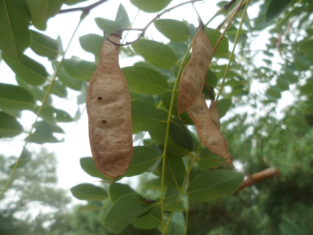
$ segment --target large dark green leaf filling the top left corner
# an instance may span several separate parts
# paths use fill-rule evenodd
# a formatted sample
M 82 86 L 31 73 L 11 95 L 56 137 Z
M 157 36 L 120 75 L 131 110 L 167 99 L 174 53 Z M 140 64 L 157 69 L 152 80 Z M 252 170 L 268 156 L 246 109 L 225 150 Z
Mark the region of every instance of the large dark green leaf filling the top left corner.
M 31 44 L 30 15 L 25 1 L 0 1 L 0 9 L 0 50 L 18 63 Z

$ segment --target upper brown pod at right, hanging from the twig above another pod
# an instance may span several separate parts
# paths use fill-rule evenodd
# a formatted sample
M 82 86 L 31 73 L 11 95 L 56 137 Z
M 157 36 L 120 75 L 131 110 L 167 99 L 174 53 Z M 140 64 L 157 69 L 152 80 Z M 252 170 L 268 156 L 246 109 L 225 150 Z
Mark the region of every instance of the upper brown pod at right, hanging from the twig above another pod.
M 201 94 L 205 75 L 212 60 L 212 46 L 200 24 L 192 41 L 191 58 L 182 71 L 178 89 L 178 116 L 194 104 Z

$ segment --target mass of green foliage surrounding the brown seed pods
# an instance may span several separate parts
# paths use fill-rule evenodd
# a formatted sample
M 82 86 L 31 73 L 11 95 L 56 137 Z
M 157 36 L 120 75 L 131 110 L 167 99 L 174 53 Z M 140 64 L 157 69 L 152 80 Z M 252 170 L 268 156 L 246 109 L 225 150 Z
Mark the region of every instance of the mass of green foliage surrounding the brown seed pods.
M 27 204 L 28 198 L 43 203 L 49 198 L 49 206 L 59 209 L 68 202 L 63 191 L 47 186 L 56 180 L 55 166 L 46 162 L 53 162 L 51 155 L 42 154 L 40 161 L 26 146 L 28 142 L 63 141 L 55 136 L 55 133 L 64 133 L 59 123 L 71 123 L 80 117 L 80 105 L 85 103 L 88 81 L 96 69 L 105 38 L 93 34 L 96 32 L 80 36 L 81 48 L 95 56 L 94 61 L 87 61 L 75 55 L 65 57 L 67 50 L 63 50 L 61 38 L 53 39 L 43 31 L 49 18 L 58 17 L 63 3 L 80 2 L 89 3 L 86 0 L 0 3 L 0 58 L 16 75 L 0 83 L 0 138 L 13 139 L 27 133 L 18 159 L 1 158 L 4 172 L 1 197 L 10 190 L 22 192 L 18 199 L 21 207 L 7 211 L 9 216 L 4 213 L 0 217 L 3 221 L 0 229 L 6 234 L 13 232 L 5 224 L 16 223 L 14 213 Z M 234 165 L 238 164 L 240 171 L 249 174 L 269 166 L 280 172 L 280 178 L 259 182 L 236 195 L 231 194 L 240 187 L 244 174 L 229 170 L 223 158 L 204 148 L 186 112 L 180 116 L 184 121 L 178 118 L 179 80 L 190 60 L 192 38 L 198 29 L 181 18 L 163 17 L 167 11 L 161 11 L 170 0 L 130 2 L 143 12 L 159 12 L 151 24 L 169 40 L 157 41 L 157 36 L 143 29 L 141 36 L 145 38 L 120 48 L 122 57 L 139 55 L 141 61 L 122 68 L 129 86 L 134 142 L 138 146 L 133 148 L 129 169 L 117 180 L 140 175 L 140 184 L 136 190 L 117 182 L 110 184 L 109 189 L 92 184 L 72 187 L 72 194 L 88 204 L 77 207 L 70 222 L 69 215 L 62 214 L 62 210 L 54 213 L 55 222 L 46 234 L 68 233 L 65 222 L 60 220 L 70 226 L 68 234 L 76 235 L 112 234 L 111 230 L 119 234 L 146 234 L 141 229 L 151 229 L 149 234 L 310 234 L 313 227 L 310 1 L 256 1 L 260 11 L 254 13 L 254 18 L 244 16 L 245 10 L 240 10 L 221 39 L 221 32 L 213 29 L 216 25 L 205 28 L 212 47 L 217 43 L 218 46 L 205 77 L 203 93 L 208 102 L 209 90 L 217 97 L 218 112 L 224 117 L 222 133 L 236 160 Z M 203 3 L 201 7 L 210 8 L 210 4 Z M 221 9 L 215 16 L 227 16 L 229 6 L 226 9 L 225 4 L 227 2 L 218 3 Z M 248 9 L 249 4 L 247 1 Z M 84 8 L 81 20 L 91 9 L 92 6 Z M 179 9 L 177 6 L 176 10 Z M 193 10 L 188 14 L 197 17 Z M 146 24 L 149 22 L 147 19 Z M 99 27 L 98 33 L 105 30 L 106 35 L 132 25 L 122 4 L 115 20 L 95 18 L 95 24 Z M 224 29 L 223 24 L 220 27 Z M 260 35 L 269 35 L 266 48 L 252 48 L 251 42 Z M 236 47 L 234 55 L 229 45 Z M 49 65 L 47 61 L 35 60 L 32 54 L 24 54 L 27 48 L 47 59 Z M 12 85 L 16 82 L 18 85 Z M 254 92 L 250 91 L 252 85 L 266 86 L 263 91 Z M 53 97 L 66 102 L 69 88 L 79 93 L 74 118 L 54 107 Z M 285 94 L 294 97 L 295 105 L 286 107 L 283 118 L 277 118 L 276 107 Z M 245 113 L 246 109 L 249 112 Z M 32 126 L 24 126 L 21 120 L 25 110 L 37 116 Z M 33 165 L 35 163 L 37 165 Z M 96 169 L 92 157 L 82 157 L 80 165 L 89 175 L 111 181 Z M 47 169 L 42 172 L 39 166 Z M 47 231 L 42 227 L 43 222 L 49 221 L 47 215 L 38 215 L 37 221 L 40 232 Z M 19 225 L 15 234 L 28 234 L 23 233 L 22 227 L 30 229 L 30 224 L 20 221 Z

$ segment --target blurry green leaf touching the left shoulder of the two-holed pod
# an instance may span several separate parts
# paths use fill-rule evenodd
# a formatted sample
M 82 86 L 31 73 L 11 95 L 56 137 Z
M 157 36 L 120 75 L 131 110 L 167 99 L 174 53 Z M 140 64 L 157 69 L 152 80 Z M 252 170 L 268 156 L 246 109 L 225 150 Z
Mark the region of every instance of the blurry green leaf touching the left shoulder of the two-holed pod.
M 97 63 L 72 56 L 70 59 L 63 61 L 63 67 L 73 78 L 89 81 L 97 68 Z

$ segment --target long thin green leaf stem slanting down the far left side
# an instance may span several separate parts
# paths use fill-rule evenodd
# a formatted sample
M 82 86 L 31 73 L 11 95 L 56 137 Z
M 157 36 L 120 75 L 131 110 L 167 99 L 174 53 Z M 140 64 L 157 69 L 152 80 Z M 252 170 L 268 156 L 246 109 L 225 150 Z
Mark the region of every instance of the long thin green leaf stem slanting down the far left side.
M 65 53 L 66 53 L 66 51 L 68 50 L 69 45 L 71 44 L 71 41 L 73 40 L 74 35 L 75 35 L 75 33 L 76 33 L 76 31 L 77 31 L 77 29 L 78 29 L 78 27 L 79 27 L 81 21 L 83 20 L 83 18 L 84 18 L 84 17 L 81 17 L 81 18 L 80 18 L 80 21 L 79 21 L 79 23 L 77 24 L 77 27 L 76 27 L 76 29 L 75 29 L 73 35 L 72 35 L 72 38 L 70 39 L 69 44 L 67 45 L 67 48 L 66 48 L 66 50 L 64 51 L 62 60 L 60 61 L 59 65 L 58 65 L 58 67 L 57 67 L 57 70 L 56 70 L 55 73 L 54 73 L 53 79 L 52 79 L 52 81 L 51 81 L 51 84 L 49 85 L 49 88 L 48 88 L 47 93 L 46 93 L 46 95 L 45 95 L 45 97 L 44 97 L 44 100 L 43 100 L 41 106 L 39 107 L 39 110 L 38 110 L 38 113 L 37 113 L 37 117 L 36 117 L 36 120 L 35 120 L 34 123 L 37 122 L 37 120 L 38 120 L 38 118 L 39 118 L 39 115 L 40 115 L 42 109 L 44 108 L 44 105 L 45 105 L 45 103 L 46 103 L 46 101 L 47 101 L 47 99 L 48 99 L 48 96 L 49 96 L 49 94 L 50 94 L 50 92 L 51 92 L 51 90 L 52 90 L 52 86 L 53 86 L 53 84 L 54 84 L 54 81 L 55 81 L 55 79 L 56 79 L 56 77 L 57 77 L 57 75 L 58 75 L 58 73 L 59 73 L 59 70 L 60 70 L 60 68 L 61 68 L 61 65 L 62 65 L 62 63 L 63 63 L 63 61 L 64 61 Z M 11 173 L 11 175 L 10 175 L 10 178 L 8 179 L 8 181 L 7 181 L 7 183 L 6 183 L 5 187 L 4 187 L 4 189 L 2 190 L 2 194 L 1 194 L 1 196 L 0 196 L 0 201 L 3 199 L 5 192 L 8 190 L 8 187 L 9 187 L 9 185 L 10 185 L 12 179 L 13 179 L 13 176 L 14 176 L 14 174 L 15 174 L 15 171 L 16 171 L 16 169 L 17 169 L 18 163 L 21 161 L 22 156 L 23 156 L 23 154 L 24 154 L 24 152 L 25 152 L 25 150 L 26 150 L 26 146 L 27 146 L 27 144 L 29 143 L 29 138 L 30 138 L 31 134 L 33 133 L 33 130 L 34 130 L 34 127 L 33 127 L 33 125 L 32 125 L 32 128 L 30 129 L 29 134 L 28 134 L 27 138 L 25 139 L 25 144 L 24 144 L 24 146 L 23 146 L 22 152 L 21 152 L 21 154 L 19 155 L 19 157 L 18 157 L 18 159 L 17 159 L 17 161 L 16 161 L 16 164 L 15 164 L 14 167 L 13 167 L 13 170 L 12 170 L 12 173 Z

